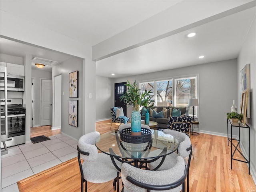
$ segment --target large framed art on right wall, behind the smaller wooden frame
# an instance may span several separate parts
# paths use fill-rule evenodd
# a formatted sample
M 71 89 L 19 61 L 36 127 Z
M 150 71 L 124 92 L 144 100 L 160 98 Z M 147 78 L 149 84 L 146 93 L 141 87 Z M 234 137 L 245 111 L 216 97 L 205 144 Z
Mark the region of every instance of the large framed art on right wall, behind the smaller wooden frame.
M 248 99 L 247 99 L 247 112 L 246 117 L 251 117 L 251 104 L 250 104 L 250 64 L 246 64 L 244 68 L 240 71 L 240 100 L 242 100 L 242 92 L 248 89 Z

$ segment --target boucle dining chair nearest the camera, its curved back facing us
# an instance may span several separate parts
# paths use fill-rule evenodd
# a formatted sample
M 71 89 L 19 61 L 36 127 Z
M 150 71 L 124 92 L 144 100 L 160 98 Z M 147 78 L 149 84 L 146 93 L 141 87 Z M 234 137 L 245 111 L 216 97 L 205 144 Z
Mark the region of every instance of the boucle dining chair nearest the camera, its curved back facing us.
M 121 172 L 124 192 L 185 192 L 187 169 L 181 156 L 177 156 L 175 165 L 168 170 L 150 171 L 123 163 Z

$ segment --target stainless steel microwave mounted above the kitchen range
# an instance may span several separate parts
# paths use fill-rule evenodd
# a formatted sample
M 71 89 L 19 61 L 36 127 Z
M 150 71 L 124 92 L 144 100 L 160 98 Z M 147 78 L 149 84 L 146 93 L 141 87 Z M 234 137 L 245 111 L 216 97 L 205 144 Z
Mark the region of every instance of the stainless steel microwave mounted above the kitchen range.
M 7 75 L 7 90 L 8 91 L 24 91 L 24 76 Z M 4 76 L 0 75 L 0 90 L 4 90 Z

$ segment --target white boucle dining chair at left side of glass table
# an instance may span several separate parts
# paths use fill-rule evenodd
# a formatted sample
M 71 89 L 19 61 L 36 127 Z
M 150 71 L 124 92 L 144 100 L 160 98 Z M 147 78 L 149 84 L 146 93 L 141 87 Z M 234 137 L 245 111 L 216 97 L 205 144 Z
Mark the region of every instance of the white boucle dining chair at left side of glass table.
M 115 190 L 119 192 L 119 171 L 114 167 L 109 155 L 98 153 L 95 141 L 100 138 L 99 132 L 90 132 L 78 140 L 78 163 L 81 172 L 81 192 L 87 192 L 87 181 L 92 183 L 104 183 L 114 180 Z M 84 160 L 81 163 L 81 159 Z M 121 163 L 117 162 L 118 167 Z

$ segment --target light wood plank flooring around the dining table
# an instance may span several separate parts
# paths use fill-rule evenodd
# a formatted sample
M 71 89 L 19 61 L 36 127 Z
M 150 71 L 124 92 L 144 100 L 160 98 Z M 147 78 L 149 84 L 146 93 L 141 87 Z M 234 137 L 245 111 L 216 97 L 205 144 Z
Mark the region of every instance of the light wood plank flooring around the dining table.
M 110 124 L 110 120 L 96 122 L 96 130 L 100 134 L 108 132 Z M 118 129 L 118 124 L 112 125 L 111 130 L 114 129 Z M 46 134 L 45 132 L 44 135 Z M 190 192 L 256 192 L 246 163 L 233 160 L 233 169 L 230 169 L 230 145 L 228 146 L 226 137 L 200 133 L 199 136 L 191 135 L 191 142 L 194 158 L 190 164 Z M 238 153 L 235 157 L 241 158 Z M 33 185 L 37 192 L 52 192 L 57 189 L 80 191 L 80 171 L 76 158 L 32 177 L 34 179 L 27 178 L 26 182 L 24 180 L 20 184 L 24 184 L 27 189 Z M 40 181 L 45 184 L 45 188 Z M 112 184 L 112 181 L 103 184 L 88 183 L 88 192 L 114 192 Z M 32 191 L 26 190 L 26 187 L 20 191 Z

